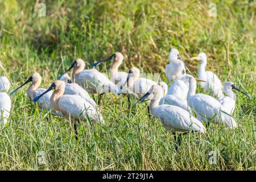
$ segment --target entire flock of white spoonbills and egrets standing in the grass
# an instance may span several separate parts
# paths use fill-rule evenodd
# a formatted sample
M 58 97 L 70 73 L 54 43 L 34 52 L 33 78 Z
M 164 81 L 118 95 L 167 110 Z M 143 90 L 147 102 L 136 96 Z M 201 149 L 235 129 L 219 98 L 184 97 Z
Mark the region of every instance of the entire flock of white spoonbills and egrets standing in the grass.
M 207 66 L 205 53 L 199 53 L 191 59 L 201 61 L 199 78 L 195 78 L 186 74 L 185 64 L 179 51 L 172 48 L 168 56 L 170 64 L 166 67 L 166 77 L 170 84 L 172 83 L 170 88 L 165 82 L 155 82 L 140 77 L 140 71 L 135 67 L 130 68 L 129 72 L 119 72 L 118 68 L 123 58 L 122 53 L 115 52 L 107 59 L 93 64 L 93 67 L 96 67 L 100 63 L 113 60 L 110 80 L 95 68 L 85 69 L 85 62 L 77 59 L 48 89 L 39 88 L 42 78 L 39 73 L 33 73 L 24 84 L 10 94 L 14 94 L 23 85 L 31 82 L 27 89 L 28 98 L 37 103 L 40 110 L 46 109 L 51 111 L 52 115 L 71 121 L 74 124 L 76 139 L 76 122 L 89 120 L 104 124 L 100 109 L 90 94 L 122 94 L 127 96 L 129 106 L 132 96 L 141 102 L 148 98 L 151 100 L 150 106 L 147 106 L 148 114 L 152 113 L 172 133 L 179 132 L 178 138 L 175 139 L 177 146 L 183 133 L 189 131 L 206 133 L 207 129 L 203 123 L 221 123 L 230 129 L 237 127 L 236 121 L 231 116 L 236 106 L 236 94 L 233 90 L 242 91 L 236 88 L 233 82 L 226 82 L 223 89 L 217 75 L 205 71 Z M 73 69 L 72 78 L 67 74 L 71 69 Z M 196 93 L 196 81 L 200 81 L 202 88 L 212 96 Z M 0 77 L 0 121 L 4 125 L 11 111 L 11 99 L 7 94 L 9 89 L 8 78 Z M 242 93 L 251 97 L 245 92 Z M 174 136 L 176 137 L 176 134 Z

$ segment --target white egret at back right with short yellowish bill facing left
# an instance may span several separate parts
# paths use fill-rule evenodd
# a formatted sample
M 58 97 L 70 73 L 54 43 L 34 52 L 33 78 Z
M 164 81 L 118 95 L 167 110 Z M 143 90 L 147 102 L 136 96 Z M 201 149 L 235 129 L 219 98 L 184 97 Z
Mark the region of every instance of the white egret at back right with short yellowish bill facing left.
M 210 71 L 205 71 L 207 66 L 207 56 L 204 52 L 199 53 L 196 57 L 192 57 L 191 60 L 200 60 L 201 64 L 198 69 L 198 77 L 206 82 L 200 82 L 201 86 L 210 94 L 214 94 L 218 98 L 224 97 L 222 93 L 222 83 L 218 76 Z

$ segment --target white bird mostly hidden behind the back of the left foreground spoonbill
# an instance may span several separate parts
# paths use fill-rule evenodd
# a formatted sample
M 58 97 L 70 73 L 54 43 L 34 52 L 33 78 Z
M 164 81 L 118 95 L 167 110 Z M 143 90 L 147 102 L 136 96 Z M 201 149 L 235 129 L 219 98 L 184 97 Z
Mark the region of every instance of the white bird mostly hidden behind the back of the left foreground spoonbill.
M 96 109 L 96 102 L 90 98 L 88 92 L 83 89 L 80 85 L 73 83 L 71 80 L 71 77 L 68 76 L 67 73 L 65 73 L 63 76 L 61 76 L 60 80 L 63 80 L 66 82 L 65 85 L 65 91 L 64 95 L 79 95 L 82 98 L 84 98 L 85 101 L 89 102 L 90 105 L 93 106 L 94 109 Z

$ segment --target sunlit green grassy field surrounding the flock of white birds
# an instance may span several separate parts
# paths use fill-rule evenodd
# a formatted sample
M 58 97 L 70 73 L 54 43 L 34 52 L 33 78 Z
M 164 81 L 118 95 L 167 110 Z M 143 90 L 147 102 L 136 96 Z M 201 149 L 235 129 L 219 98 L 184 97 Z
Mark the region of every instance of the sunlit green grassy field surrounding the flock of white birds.
M 45 17 L 39 16 L 40 2 Z M 148 119 L 146 104 L 128 111 L 125 97 L 105 95 L 100 107 L 106 125 L 81 123 L 76 141 L 68 121 L 53 116 L 47 121 L 24 86 L 11 96 L 10 121 L 0 129 L 1 170 L 256 169 L 255 1 L 213 1 L 216 18 L 209 16 L 212 1 L 40 2 L 0 0 L 0 75 L 10 78 L 11 90 L 35 71 L 48 88 L 73 59 L 81 57 L 91 68 L 114 51 L 125 56 L 120 70 L 134 65 L 167 81 L 168 52 L 176 47 L 193 75 L 199 62 L 189 58 L 204 51 L 208 69 L 253 99 L 238 94 L 237 129 L 210 125 L 205 135 L 184 136 L 177 152 L 173 135 L 157 119 Z M 97 69 L 108 73 L 109 68 L 106 63 Z M 199 85 L 197 92 L 203 93 Z M 210 151 L 216 164 L 209 163 Z

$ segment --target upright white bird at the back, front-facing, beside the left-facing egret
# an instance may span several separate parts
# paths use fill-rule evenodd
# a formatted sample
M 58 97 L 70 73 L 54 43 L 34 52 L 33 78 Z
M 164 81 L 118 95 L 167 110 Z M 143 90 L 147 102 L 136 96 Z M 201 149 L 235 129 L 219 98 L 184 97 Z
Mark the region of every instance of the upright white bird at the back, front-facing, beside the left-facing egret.
M 168 59 L 170 64 L 166 67 L 166 77 L 168 81 L 180 80 L 185 74 L 185 64 L 180 57 L 179 51 L 176 48 L 172 48 Z

